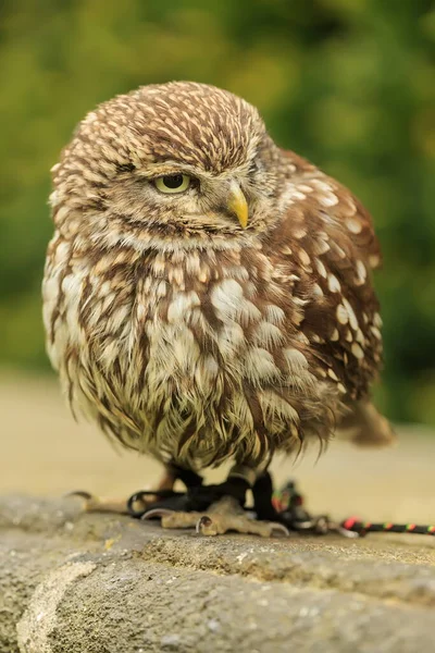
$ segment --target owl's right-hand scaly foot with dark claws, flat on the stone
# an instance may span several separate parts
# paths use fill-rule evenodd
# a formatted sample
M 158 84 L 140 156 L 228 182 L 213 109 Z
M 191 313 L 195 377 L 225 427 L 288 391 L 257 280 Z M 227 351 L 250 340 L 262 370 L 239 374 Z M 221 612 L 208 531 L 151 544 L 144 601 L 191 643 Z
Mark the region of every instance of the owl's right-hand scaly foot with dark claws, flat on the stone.
M 233 496 L 223 496 L 204 512 L 175 512 L 151 508 L 142 519 L 160 518 L 163 528 L 195 528 L 202 535 L 222 535 L 228 531 L 260 535 L 262 538 L 287 537 L 287 528 L 273 521 L 258 521 L 244 510 Z

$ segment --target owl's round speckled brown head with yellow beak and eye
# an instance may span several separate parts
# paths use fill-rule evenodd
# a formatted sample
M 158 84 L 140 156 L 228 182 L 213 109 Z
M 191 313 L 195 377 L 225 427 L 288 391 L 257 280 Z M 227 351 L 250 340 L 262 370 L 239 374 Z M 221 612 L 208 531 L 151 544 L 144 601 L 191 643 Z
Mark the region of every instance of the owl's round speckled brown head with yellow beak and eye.
M 257 109 L 233 94 L 145 86 L 79 124 L 53 169 L 54 221 L 108 244 L 258 231 L 276 209 L 279 158 Z

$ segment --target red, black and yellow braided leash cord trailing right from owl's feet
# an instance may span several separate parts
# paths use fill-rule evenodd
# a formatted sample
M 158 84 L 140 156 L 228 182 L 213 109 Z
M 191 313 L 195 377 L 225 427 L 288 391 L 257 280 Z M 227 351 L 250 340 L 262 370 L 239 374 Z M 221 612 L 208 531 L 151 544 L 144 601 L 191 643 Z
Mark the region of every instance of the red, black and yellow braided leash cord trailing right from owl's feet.
M 326 534 L 337 532 L 347 538 L 362 538 L 368 533 L 415 533 L 435 535 L 435 526 L 420 523 L 371 522 L 349 517 L 341 522 L 332 521 L 326 515 L 312 516 L 303 507 L 303 496 L 293 481 L 272 496 L 275 510 L 283 521 L 298 532 Z

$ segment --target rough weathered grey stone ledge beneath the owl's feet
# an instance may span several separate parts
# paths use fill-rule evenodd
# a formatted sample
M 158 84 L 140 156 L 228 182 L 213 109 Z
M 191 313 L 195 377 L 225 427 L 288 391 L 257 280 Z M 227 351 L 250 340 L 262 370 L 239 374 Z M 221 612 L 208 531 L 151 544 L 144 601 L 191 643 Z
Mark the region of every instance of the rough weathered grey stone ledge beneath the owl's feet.
M 435 540 L 200 538 L 0 500 L 0 653 L 414 653 Z

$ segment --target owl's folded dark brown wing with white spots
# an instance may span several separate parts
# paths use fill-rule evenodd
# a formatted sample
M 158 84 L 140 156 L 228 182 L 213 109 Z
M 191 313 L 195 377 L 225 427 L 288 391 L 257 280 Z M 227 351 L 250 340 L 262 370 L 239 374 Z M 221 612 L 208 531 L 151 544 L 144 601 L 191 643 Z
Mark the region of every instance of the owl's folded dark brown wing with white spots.
M 381 263 L 361 202 L 313 167 L 291 175 L 290 206 L 269 243 L 281 281 L 299 306 L 299 332 L 319 374 L 348 399 L 364 397 L 382 362 L 381 318 L 371 271 Z M 307 343 L 308 344 L 308 343 Z

